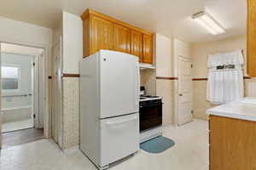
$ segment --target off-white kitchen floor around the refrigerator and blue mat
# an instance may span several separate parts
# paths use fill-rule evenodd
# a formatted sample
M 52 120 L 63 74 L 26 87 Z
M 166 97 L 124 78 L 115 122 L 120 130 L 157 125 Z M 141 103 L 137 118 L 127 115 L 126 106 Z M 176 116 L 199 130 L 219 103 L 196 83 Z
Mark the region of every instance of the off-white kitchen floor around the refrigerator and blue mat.
M 164 136 L 175 146 L 160 154 L 139 150 L 135 156 L 110 167 L 110 170 L 207 170 L 208 123 L 195 120 L 182 127 L 164 128 Z M 96 170 L 76 149 L 61 151 L 49 139 L 20 144 L 1 150 L 1 170 Z

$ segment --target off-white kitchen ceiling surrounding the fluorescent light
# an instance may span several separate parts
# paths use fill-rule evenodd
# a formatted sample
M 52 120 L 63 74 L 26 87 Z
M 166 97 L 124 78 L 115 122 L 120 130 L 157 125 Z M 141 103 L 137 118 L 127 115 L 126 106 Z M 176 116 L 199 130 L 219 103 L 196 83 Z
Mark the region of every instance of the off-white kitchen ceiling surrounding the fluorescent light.
M 187 42 L 206 42 L 246 33 L 246 0 L 1 0 L 0 15 L 55 27 L 61 10 L 81 15 L 96 9 L 131 25 Z M 204 8 L 224 26 L 226 33 L 212 36 L 191 15 Z

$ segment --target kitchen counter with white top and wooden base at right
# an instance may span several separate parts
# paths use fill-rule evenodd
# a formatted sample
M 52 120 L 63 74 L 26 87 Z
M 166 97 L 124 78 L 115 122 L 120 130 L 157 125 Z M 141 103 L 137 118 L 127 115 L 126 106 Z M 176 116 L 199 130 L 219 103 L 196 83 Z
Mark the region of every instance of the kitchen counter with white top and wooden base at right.
M 210 170 L 256 169 L 256 98 L 207 110 Z

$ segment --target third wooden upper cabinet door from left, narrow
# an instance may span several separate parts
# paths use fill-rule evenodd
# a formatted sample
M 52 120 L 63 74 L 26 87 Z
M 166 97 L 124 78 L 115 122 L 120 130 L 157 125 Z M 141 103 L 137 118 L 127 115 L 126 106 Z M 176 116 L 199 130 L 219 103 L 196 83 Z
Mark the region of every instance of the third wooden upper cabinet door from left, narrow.
M 131 54 L 139 57 L 143 62 L 143 33 L 131 30 Z

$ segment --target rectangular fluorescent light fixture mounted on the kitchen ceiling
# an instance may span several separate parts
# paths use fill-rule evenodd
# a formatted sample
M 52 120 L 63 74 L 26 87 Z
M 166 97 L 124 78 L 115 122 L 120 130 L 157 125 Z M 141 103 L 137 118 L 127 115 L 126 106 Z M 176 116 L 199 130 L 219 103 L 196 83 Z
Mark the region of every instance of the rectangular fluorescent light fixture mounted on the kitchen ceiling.
M 225 32 L 224 28 L 220 26 L 211 15 L 205 13 L 204 11 L 193 14 L 192 19 L 207 29 L 207 31 L 209 31 L 212 35 L 223 34 Z

